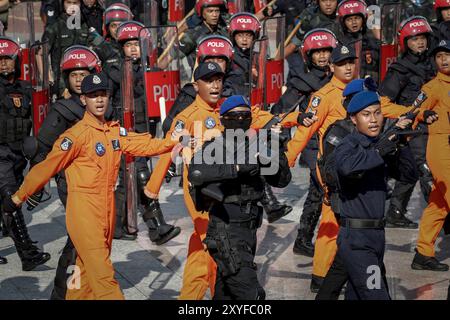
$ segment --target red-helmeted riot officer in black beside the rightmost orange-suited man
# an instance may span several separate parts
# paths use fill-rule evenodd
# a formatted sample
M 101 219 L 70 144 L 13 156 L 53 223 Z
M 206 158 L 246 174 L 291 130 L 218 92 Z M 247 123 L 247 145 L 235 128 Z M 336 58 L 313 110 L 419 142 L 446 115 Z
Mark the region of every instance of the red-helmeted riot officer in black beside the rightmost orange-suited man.
M 420 106 L 426 98 L 420 94 L 422 85 L 434 76 L 428 56 L 431 32 L 431 27 L 424 17 L 413 16 L 401 23 L 398 41 L 402 56 L 390 65 L 380 85 L 382 96 L 387 96 L 392 102 L 400 105 Z M 421 125 L 421 128 L 426 132 L 426 125 Z M 426 134 L 414 137 L 410 141 L 410 146 L 419 167 L 422 193 L 428 198 L 432 176 L 426 165 L 426 140 Z M 387 227 L 417 228 L 417 223 L 405 216 L 414 186 L 415 183 L 396 182 L 386 215 Z

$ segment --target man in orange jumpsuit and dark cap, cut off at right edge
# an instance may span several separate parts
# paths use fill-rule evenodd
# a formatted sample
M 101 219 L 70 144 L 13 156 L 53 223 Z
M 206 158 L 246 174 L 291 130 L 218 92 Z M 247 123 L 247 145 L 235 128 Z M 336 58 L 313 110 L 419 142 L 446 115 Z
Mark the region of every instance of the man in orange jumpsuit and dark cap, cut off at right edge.
M 448 265 L 434 258 L 434 245 L 450 211 L 450 41 L 442 41 L 434 56 L 439 72 L 422 87 L 425 101 L 417 115 L 418 121 L 434 121 L 428 125 L 427 145 L 427 163 L 434 184 L 420 220 L 417 253 L 411 267 L 447 271 Z

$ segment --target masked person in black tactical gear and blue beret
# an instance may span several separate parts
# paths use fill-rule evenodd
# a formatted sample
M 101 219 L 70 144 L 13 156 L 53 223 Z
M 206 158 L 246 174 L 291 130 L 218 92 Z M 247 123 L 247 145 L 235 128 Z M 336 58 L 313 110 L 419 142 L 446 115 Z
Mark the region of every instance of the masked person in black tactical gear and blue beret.
M 210 205 L 208 231 L 203 241 L 217 264 L 213 299 L 262 300 L 265 291 L 258 282 L 254 263 L 256 230 L 262 222 L 262 208 L 257 205 L 264 192 L 262 164 L 251 153 L 251 142 L 234 143 L 236 136 L 238 141 L 246 139 L 245 132 L 252 122 L 247 99 L 243 96 L 229 97 L 220 107 L 220 121 L 225 129 L 223 136 L 205 143 L 198 152 L 214 145 L 215 150 L 223 152 L 214 155 L 212 164 L 209 161 L 199 163 L 194 155 L 188 175 L 192 185 L 200 189 L 199 193 L 202 187 L 208 188 L 213 182 L 220 182 L 218 188 L 223 190 L 223 200 L 216 199 Z M 271 139 L 276 139 L 275 134 Z M 224 157 L 230 145 L 237 157 L 231 159 L 231 163 L 225 160 L 228 156 Z M 277 161 L 279 166 L 272 175 L 264 176 L 265 181 L 279 188 L 286 187 L 291 180 L 286 156 L 282 149 L 272 152 L 271 160 Z M 264 165 L 269 166 L 267 163 Z

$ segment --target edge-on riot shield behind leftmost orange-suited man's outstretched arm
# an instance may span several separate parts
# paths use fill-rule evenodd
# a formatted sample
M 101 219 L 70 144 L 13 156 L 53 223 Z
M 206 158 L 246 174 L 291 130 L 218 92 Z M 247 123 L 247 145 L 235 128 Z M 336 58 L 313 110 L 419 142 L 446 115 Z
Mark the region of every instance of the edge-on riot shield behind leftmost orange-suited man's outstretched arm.
M 125 59 L 123 65 L 122 82 L 120 84 L 122 94 L 123 119 L 122 126 L 127 131 L 134 131 L 134 81 L 133 61 Z M 124 186 L 126 190 L 127 204 L 127 228 L 129 233 L 135 233 L 137 228 L 137 203 L 138 192 L 136 184 L 136 167 L 132 156 L 125 156 Z

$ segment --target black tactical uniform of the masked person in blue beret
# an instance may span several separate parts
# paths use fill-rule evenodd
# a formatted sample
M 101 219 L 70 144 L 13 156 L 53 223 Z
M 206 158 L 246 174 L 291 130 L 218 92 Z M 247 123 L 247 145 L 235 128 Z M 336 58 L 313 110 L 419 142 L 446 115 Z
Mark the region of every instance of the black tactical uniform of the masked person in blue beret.
M 226 154 L 226 133 L 223 137 L 205 143 L 205 148 L 217 144 L 215 150 Z M 234 139 L 234 138 L 232 138 Z M 242 150 L 241 150 L 242 151 Z M 235 149 L 237 153 L 237 147 Z M 247 145 L 246 153 L 249 149 Z M 262 208 L 257 202 L 264 193 L 264 180 L 275 187 L 285 187 L 291 180 L 291 172 L 284 152 L 279 152 L 279 170 L 275 175 L 261 179 L 258 164 L 227 164 L 222 156 L 216 156 L 213 164 L 189 166 L 189 181 L 198 192 L 211 183 L 220 183 L 223 201 L 215 201 L 209 210 L 208 231 L 204 243 L 217 263 L 217 278 L 213 299 L 262 300 L 265 291 L 258 282 L 254 257 L 256 230 L 262 222 Z M 225 164 L 218 164 L 225 163 Z M 205 200 L 206 201 L 206 200 Z

